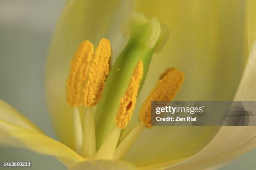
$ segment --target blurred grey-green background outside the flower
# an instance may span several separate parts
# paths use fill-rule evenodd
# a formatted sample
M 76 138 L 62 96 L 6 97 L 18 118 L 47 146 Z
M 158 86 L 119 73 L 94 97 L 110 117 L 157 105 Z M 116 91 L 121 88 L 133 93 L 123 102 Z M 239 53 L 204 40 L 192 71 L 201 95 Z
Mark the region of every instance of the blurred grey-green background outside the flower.
M 65 0 L 0 0 L 0 99 L 54 139 L 46 107 L 44 72 L 64 3 Z M 220 170 L 254 170 L 255 158 L 256 150 L 252 150 Z M 5 146 L 0 146 L 0 160 L 32 161 L 30 170 L 65 169 L 53 157 Z

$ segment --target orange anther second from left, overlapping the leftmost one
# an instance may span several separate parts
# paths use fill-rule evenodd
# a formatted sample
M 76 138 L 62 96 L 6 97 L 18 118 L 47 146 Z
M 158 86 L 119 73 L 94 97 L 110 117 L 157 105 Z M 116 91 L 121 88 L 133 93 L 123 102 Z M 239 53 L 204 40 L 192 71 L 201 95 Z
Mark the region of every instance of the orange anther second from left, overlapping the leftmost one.
M 87 107 L 96 105 L 100 100 L 109 72 L 110 55 L 110 42 L 106 38 L 102 38 L 92 56 L 87 78 L 82 86 L 82 102 Z

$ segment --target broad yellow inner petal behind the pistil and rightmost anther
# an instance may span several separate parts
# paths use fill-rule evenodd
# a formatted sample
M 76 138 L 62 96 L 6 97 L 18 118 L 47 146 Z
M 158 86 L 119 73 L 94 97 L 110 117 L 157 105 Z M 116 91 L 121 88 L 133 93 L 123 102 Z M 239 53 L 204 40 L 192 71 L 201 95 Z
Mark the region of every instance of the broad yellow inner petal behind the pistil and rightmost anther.
M 136 2 L 136 11 L 148 18 L 156 16 L 170 33 L 161 52 L 152 57 L 150 77 L 145 80 L 137 105 L 142 105 L 161 72 L 172 66 L 182 70 L 186 77 L 174 100 L 233 100 L 248 57 L 246 1 Z M 137 112 L 138 109 L 133 117 Z M 137 123 L 132 119 L 127 128 Z M 192 156 L 217 132 L 218 127 L 209 126 L 143 130 L 125 159 L 144 166 Z M 151 154 L 146 148 L 151 149 Z

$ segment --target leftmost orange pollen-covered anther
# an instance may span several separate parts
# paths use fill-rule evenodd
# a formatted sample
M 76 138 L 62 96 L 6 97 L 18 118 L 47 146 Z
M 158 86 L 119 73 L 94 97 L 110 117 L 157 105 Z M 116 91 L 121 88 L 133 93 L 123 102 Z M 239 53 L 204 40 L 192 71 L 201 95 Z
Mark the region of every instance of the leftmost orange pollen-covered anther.
M 67 79 L 67 101 L 71 106 L 82 105 L 81 87 L 87 77 L 93 51 L 94 46 L 92 42 L 85 40 L 79 45 L 77 52 L 74 54 Z

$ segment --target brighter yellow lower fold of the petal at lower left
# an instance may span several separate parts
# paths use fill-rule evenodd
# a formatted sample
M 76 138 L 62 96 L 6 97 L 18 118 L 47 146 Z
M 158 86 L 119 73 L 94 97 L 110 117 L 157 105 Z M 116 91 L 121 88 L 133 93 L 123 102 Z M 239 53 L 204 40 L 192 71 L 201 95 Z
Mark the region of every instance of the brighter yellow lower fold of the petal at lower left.
M 54 156 L 66 166 L 85 160 L 59 141 L 3 120 L 0 120 L 0 143 Z

